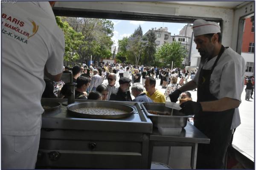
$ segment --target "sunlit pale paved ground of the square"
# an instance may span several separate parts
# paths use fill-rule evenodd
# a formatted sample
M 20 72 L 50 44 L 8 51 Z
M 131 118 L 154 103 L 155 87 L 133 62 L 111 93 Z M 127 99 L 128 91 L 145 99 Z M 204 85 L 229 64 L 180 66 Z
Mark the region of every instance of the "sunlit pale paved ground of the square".
M 119 78 L 119 77 L 118 77 Z M 131 78 L 131 77 L 130 77 Z M 189 79 L 188 81 L 190 81 Z M 157 79 L 156 88 L 162 93 L 165 92 L 165 89 L 160 86 L 160 79 Z M 178 82 L 180 79 L 178 79 Z M 244 87 L 245 89 L 245 87 Z M 192 100 L 197 100 L 197 91 L 189 91 L 192 95 Z M 254 94 L 253 94 L 254 98 Z M 132 96 L 134 99 L 134 96 Z M 239 106 L 239 112 L 241 117 L 241 125 L 236 128 L 234 134 L 233 145 L 238 148 L 241 153 L 254 161 L 254 99 L 250 101 L 245 100 L 245 90 L 241 95 L 241 104 Z

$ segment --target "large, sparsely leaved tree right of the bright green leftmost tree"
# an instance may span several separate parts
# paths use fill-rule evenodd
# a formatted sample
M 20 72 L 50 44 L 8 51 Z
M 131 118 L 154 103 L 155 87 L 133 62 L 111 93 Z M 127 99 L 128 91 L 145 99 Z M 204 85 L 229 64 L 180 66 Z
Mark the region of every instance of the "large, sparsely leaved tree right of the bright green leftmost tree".
M 70 25 L 84 36 L 84 43 L 78 48 L 80 59 L 93 60 L 109 58 L 113 41 L 113 23 L 110 20 L 96 18 L 63 17 Z

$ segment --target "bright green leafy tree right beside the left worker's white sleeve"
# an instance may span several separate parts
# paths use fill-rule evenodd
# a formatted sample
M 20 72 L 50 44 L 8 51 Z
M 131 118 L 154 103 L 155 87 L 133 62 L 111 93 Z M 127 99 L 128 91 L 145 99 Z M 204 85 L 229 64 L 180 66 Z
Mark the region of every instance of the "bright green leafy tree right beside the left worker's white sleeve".
M 64 60 L 69 62 L 79 58 L 77 53 L 79 46 L 83 43 L 84 36 L 76 32 L 66 21 L 62 21 L 60 17 L 55 17 L 58 26 L 64 32 L 65 38 L 65 54 Z

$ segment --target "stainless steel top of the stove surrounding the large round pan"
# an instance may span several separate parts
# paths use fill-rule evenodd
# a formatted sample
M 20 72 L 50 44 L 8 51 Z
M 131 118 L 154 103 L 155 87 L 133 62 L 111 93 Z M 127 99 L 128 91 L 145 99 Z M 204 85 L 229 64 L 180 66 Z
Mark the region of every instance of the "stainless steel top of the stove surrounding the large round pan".
M 67 102 L 67 99 L 47 99 L 48 101 Z M 99 100 L 78 100 L 76 102 L 101 102 Z M 42 115 L 42 128 L 73 129 L 73 130 L 103 130 L 119 132 L 151 133 L 152 122 L 141 111 L 137 102 L 117 102 L 131 105 L 135 108 L 135 114 L 123 119 L 85 119 L 75 118 L 67 113 L 66 106 L 61 106 L 61 112 Z M 111 102 L 110 102 L 111 104 Z

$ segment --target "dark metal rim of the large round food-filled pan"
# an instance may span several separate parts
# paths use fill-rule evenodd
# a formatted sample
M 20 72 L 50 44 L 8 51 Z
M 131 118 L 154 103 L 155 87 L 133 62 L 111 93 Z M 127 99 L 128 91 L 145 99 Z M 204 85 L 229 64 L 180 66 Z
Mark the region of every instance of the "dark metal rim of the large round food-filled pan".
M 79 108 L 92 108 L 92 107 L 104 107 L 104 108 L 113 108 L 113 109 L 120 109 L 127 113 L 119 114 L 119 115 L 97 115 L 97 114 L 85 114 L 79 113 L 74 111 L 75 109 Z M 134 114 L 134 108 L 120 103 L 114 102 L 83 102 L 83 103 L 75 103 L 67 106 L 67 111 L 72 116 L 82 117 L 82 118 L 90 118 L 90 119 L 121 119 L 124 117 L 131 116 Z

